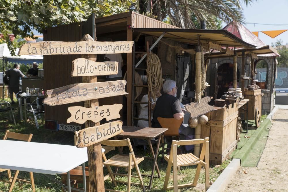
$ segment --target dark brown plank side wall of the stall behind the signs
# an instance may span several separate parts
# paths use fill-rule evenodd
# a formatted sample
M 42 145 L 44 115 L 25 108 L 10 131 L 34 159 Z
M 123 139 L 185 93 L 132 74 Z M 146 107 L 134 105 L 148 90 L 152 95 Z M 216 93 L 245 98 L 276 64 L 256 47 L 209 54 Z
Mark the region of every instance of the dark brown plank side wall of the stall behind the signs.
M 82 38 L 82 25 L 78 23 L 57 26 L 47 29 L 43 34 L 44 41 L 79 41 Z M 44 56 L 44 89 L 50 90 L 65 85 L 82 82 L 81 77 L 71 77 L 71 63 L 74 59 L 80 58 L 81 55 L 51 55 Z M 45 119 L 58 120 L 59 124 L 68 124 L 66 120 L 70 117 L 68 107 L 83 106 L 83 102 L 64 104 L 58 106 L 45 105 Z M 79 125 L 69 123 L 71 125 Z

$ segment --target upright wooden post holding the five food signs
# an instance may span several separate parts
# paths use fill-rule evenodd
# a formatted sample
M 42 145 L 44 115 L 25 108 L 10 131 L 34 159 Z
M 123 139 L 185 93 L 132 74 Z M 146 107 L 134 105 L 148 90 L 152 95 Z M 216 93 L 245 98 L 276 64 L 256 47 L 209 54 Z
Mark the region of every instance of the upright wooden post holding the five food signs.
M 81 41 L 94 41 L 94 39 L 85 34 Z M 96 54 L 82 55 L 82 57 L 96 61 Z M 82 77 L 82 83 L 95 83 L 97 82 L 97 76 L 84 76 Z M 96 89 L 96 88 L 95 88 Z M 98 99 L 84 101 L 84 107 L 91 107 L 91 104 L 99 106 Z M 85 128 L 97 126 L 100 123 L 93 123 L 92 121 L 85 122 Z M 102 165 L 102 153 L 101 142 L 87 147 L 88 155 L 88 167 L 89 167 L 89 187 L 91 192 L 104 192 L 104 174 Z

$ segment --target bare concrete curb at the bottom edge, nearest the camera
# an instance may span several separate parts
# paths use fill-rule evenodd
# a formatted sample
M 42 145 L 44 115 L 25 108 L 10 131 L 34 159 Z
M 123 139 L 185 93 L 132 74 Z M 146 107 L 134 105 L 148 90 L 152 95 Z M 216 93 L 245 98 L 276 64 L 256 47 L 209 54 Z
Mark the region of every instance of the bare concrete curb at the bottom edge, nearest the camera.
M 216 181 L 210 186 L 207 192 L 222 192 L 230 183 L 230 180 L 240 168 L 240 159 L 232 159 L 229 165 L 219 175 Z

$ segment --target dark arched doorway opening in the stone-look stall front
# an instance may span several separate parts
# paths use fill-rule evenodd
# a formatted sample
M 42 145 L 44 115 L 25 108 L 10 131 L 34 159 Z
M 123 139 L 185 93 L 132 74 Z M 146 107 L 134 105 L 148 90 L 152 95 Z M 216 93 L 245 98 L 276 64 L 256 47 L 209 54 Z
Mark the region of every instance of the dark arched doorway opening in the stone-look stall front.
M 239 79 L 239 70 L 237 70 L 237 79 Z M 221 98 L 224 92 L 233 88 L 233 63 L 223 63 L 217 70 L 217 98 Z M 237 80 L 237 87 L 239 87 L 239 80 Z

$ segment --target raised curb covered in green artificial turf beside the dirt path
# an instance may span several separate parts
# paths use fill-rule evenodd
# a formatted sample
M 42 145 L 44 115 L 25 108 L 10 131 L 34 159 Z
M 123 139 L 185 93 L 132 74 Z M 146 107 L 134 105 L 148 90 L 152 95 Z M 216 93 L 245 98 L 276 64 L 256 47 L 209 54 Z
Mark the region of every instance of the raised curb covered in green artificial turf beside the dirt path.
M 271 125 L 272 122 L 270 119 L 265 119 L 259 128 L 253 133 L 253 135 L 250 137 L 250 139 L 245 143 L 245 145 L 236 153 L 233 158 L 241 159 L 241 161 L 245 161 L 247 155 L 251 152 L 253 146 L 257 142 L 257 140 L 262 136 L 262 133 L 268 127 Z M 240 153 L 241 152 L 241 153 Z

